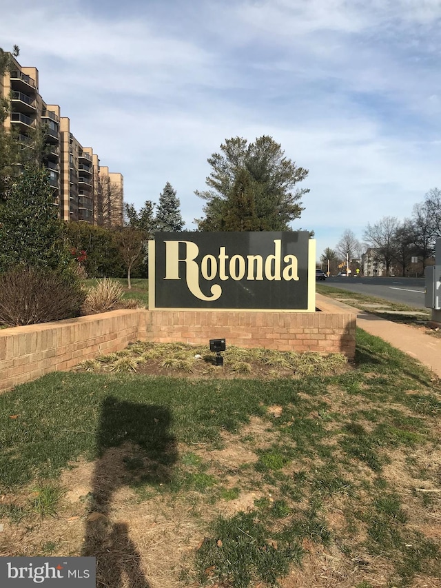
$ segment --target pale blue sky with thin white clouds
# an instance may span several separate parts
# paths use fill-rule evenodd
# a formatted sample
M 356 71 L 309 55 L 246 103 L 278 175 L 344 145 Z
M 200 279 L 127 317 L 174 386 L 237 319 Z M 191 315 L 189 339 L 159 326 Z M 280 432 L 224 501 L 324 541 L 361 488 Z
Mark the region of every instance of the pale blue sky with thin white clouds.
M 441 0 L 14 0 L 1 20 L 125 202 L 170 182 L 187 230 L 234 136 L 309 170 L 291 226 L 317 257 L 441 187 Z

